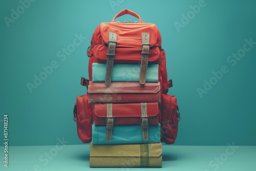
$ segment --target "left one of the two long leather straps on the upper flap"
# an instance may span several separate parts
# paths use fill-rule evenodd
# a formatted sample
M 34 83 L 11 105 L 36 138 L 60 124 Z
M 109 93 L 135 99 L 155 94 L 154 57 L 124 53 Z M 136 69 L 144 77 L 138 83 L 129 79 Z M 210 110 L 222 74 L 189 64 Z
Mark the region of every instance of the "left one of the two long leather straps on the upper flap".
M 115 57 L 115 49 L 116 49 L 116 39 L 117 36 L 115 33 L 109 32 L 109 44 L 108 44 L 108 52 L 106 53 L 106 77 L 105 83 L 107 86 L 111 83 L 112 78 L 112 70 L 114 65 L 114 57 Z

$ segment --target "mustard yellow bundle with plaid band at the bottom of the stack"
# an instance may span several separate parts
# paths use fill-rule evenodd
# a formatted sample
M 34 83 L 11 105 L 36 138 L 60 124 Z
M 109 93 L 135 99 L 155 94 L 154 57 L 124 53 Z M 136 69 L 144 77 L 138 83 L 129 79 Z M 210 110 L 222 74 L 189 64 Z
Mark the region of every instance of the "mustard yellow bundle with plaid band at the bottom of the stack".
M 90 167 L 162 167 L 162 143 L 91 143 Z

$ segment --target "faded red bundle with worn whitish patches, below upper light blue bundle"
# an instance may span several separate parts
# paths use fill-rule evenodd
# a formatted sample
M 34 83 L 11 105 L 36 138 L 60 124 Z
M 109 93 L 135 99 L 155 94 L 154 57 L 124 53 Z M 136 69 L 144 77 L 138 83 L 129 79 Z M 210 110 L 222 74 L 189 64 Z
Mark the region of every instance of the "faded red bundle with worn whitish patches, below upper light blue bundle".
M 106 87 L 104 82 L 90 81 L 88 87 L 89 104 L 93 103 L 131 103 L 160 102 L 160 83 L 112 82 Z

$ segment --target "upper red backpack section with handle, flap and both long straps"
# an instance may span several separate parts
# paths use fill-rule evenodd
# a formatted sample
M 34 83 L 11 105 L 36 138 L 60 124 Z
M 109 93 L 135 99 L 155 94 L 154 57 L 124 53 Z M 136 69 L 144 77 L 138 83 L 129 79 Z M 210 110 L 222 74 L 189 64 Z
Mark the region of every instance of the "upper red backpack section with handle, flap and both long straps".
M 124 14 L 139 18 L 139 23 L 114 22 L 117 17 Z M 112 38 L 110 33 L 114 34 Z M 166 94 L 168 88 L 172 87 L 172 81 L 167 80 L 165 53 L 161 47 L 161 34 L 157 26 L 144 23 L 141 17 L 131 10 L 125 9 L 111 22 L 97 26 L 91 39 L 91 46 L 88 48 L 88 56 L 90 80 L 92 80 L 92 63 L 106 63 L 105 82 L 108 85 L 111 82 L 113 63 L 141 63 L 140 83 L 145 84 L 147 65 L 154 63 L 159 65 L 161 95 Z

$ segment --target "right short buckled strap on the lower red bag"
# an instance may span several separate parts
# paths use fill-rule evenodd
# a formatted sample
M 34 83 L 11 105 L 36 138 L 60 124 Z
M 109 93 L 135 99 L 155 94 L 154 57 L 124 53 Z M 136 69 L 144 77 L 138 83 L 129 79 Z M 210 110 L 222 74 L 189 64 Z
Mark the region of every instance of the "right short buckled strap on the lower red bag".
M 141 131 L 144 141 L 148 140 L 148 116 L 146 110 L 146 103 L 141 103 L 141 118 L 140 118 Z

